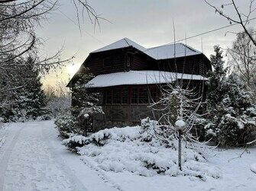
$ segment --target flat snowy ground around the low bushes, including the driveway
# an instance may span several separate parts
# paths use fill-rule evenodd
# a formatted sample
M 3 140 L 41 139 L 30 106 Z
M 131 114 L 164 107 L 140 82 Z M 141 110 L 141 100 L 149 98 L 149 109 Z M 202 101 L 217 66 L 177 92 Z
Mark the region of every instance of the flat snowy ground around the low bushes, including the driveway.
M 105 172 L 61 145 L 52 121 L 0 128 L 0 190 L 256 190 L 256 148 L 212 151 L 209 164 L 222 178 L 141 177 Z M 235 158 L 235 159 L 232 159 Z

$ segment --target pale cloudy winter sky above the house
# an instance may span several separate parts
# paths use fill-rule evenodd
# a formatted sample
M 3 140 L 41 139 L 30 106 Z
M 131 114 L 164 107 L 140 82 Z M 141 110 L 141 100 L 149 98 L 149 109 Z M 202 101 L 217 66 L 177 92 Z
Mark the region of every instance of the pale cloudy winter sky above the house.
M 101 21 L 101 31 L 99 28 L 94 31 L 89 18 L 86 18 L 80 33 L 76 9 L 68 0 L 62 1 L 60 11 L 54 11 L 49 20 L 37 29 L 37 35 L 46 40 L 45 54 L 54 54 L 63 45 L 62 59 L 76 54 L 76 58 L 72 61 L 75 66 L 68 66 L 70 73 L 83 63 L 90 52 L 124 37 L 146 48 L 172 43 L 173 22 L 176 40 L 183 39 L 185 34 L 186 37 L 190 37 L 228 25 L 228 21 L 215 14 L 215 11 L 203 0 L 88 0 L 88 2 L 98 14 L 111 21 L 111 23 Z M 228 1 L 212 0 L 211 2 L 221 5 Z M 241 11 L 247 11 L 248 0 L 236 0 L 236 2 Z M 255 15 L 252 14 L 251 18 L 254 17 Z M 252 27 L 254 24 L 255 21 L 251 21 Z M 228 30 L 238 32 L 241 27 L 234 26 L 208 33 L 187 40 L 186 43 L 199 51 L 203 50 L 203 53 L 209 57 L 213 53 L 214 45 L 219 44 L 223 49 L 232 46 L 235 35 L 232 33 L 225 35 Z M 48 75 L 44 84 L 67 82 L 68 78 L 70 77 L 65 68 L 63 73 L 58 73 L 58 77 L 55 73 Z

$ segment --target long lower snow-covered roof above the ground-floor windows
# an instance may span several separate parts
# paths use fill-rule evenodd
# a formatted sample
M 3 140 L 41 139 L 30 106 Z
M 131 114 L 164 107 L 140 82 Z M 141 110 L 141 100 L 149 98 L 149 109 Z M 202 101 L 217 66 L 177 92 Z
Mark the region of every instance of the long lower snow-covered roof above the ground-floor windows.
M 86 88 L 103 88 L 128 84 L 166 84 L 177 79 L 207 80 L 201 75 L 189 75 L 176 72 L 162 71 L 129 71 L 97 75 L 85 86 Z

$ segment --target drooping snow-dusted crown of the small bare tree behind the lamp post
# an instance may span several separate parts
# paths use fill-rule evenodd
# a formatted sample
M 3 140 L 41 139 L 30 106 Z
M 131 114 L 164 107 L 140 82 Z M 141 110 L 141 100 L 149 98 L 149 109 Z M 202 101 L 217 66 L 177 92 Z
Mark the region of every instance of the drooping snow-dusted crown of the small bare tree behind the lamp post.
M 190 81 L 184 84 L 183 80 L 178 80 L 175 76 L 169 78 L 173 78 L 173 81 L 176 79 L 176 82 L 161 86 L 160 94 L 162 96 L 157 102 L 151 104 L 155 115 L 160 115 L 158 123 L 164 126 L 163 132 L 157 136 L 167 142 L 171 141 L 170 137 L 177 138 L 178 130 L 175 128 L 175 123 L 177 120 L 183 120 L 186 123 L 183 138 L 186 141 L 198 142 L 199 135 L 195 126 L 198 123 L 197 119 L 203 116 L 203 114 L 199 114 L 199 110 L 204 104 L 203 94 L 197 92 L 195 88 L 191 88 Z

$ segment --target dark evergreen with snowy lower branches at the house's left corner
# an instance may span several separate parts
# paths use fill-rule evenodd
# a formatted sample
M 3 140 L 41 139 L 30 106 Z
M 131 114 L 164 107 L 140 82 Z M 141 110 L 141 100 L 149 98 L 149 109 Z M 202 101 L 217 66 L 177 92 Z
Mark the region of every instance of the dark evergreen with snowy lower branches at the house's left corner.
M 87 135 L 87 132 L 93 130 L 93 117 L 103 113 L 102 107 L 98 105 L 99 94 L 90 92 L 85 86 L 93 78 L 89 68 L 80 68 L 78 75 L 78 81 L 73 84 L 71 90 L 71 111 L 55 122 L 60 135 L 63 137 L 69 137 L 73 134 Z

